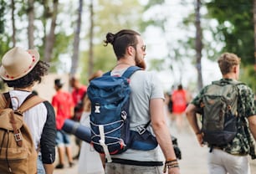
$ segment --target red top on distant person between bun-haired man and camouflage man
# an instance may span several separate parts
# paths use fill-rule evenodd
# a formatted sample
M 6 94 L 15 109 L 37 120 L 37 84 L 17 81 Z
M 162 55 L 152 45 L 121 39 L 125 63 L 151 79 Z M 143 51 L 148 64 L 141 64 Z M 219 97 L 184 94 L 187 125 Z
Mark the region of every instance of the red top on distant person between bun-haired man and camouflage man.
M 182 114 L 186 110 L 187 100 L 186 100 L 185 90 L 175 90 L 172 93 L 172 113 Z

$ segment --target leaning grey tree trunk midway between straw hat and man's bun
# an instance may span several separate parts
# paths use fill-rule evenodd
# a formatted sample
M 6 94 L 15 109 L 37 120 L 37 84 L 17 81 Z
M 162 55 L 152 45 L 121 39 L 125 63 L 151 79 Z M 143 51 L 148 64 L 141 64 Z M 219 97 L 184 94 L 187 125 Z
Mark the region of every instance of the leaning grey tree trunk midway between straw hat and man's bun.
M 82 21 L 82 12 L 83 12 L 83 0 L 79 0 L 79 9 L 78 9 L 78 19 L 77 19 L 77 28 L 74 31 L 74 44 L 73 44 L 73 56 L 71 63 L 70 75 L 73 76 L 78 68 L 79 63 L 79 41 L 80 41 L 80 30 L 81 30 L 81 21 Z

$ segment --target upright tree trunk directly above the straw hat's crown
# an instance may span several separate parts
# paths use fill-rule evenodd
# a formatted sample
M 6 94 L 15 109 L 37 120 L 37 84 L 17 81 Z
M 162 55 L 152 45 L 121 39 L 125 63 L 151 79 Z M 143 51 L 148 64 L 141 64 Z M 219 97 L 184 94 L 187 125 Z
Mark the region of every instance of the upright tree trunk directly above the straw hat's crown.
M 33 49 L 33 21 L 34 21 L 34 11 L 33 11 L 33 0 L 28 0 L 28 49 Z

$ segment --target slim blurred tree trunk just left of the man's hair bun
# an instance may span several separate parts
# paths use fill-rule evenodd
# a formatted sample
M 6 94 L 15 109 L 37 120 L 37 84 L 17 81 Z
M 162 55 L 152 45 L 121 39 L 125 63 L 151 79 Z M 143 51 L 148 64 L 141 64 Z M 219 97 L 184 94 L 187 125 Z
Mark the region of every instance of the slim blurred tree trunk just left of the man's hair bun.
M 89 68 L 88 74 L 93 74 L 94 70 L 94 51 L 93 51 L 93 38 L 94 38 L 94 1 L 90 0 L 90 43 L 89 43 Z

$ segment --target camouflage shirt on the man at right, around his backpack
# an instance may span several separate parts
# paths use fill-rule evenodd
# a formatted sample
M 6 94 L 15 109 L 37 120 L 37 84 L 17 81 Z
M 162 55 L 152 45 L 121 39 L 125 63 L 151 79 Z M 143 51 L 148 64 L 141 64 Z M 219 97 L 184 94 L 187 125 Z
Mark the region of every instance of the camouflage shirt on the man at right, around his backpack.
M 232 80 L 232 79 L 220 79 L 220 80 Z M 200 110 L 200 102 L 202 95 L 207 90 L 204 87 L 200 93 L 192 100 L 192 104 L 196 105 L 197 109 Z M 228 143 L 227 146 L 223 146 L 223 151 L 233 155 L 250 155 L 252 159 L 256 158 L 254 151 L 253 136 L 248 129 L 247 118 L 255 113 L 254 95 L 253 91 L 245 84 L 238 84 L 239 98 L 238 98 L 238 133 L 237 136 Z

